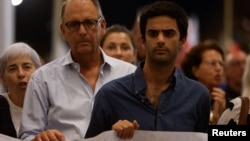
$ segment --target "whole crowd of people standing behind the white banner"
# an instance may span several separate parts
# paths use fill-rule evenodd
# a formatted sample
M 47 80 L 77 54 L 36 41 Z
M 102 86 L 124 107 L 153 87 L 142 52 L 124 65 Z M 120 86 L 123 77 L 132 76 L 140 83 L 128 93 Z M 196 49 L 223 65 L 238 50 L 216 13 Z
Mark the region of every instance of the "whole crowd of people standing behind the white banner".
M 250 98 L 250 57 L 240 46 L 201 41 L 177 67 L 188 36 L 178 4 L 143 6 L 131 30 L 106 22 L 98 0 L 65 0 L 64 56 L 42 63 L 24 42 L 1 53 L 1 134 L 73 141 L 114 130 L 130 139 L 135 130 L 207 133 L 237 124 L 239 97 Z

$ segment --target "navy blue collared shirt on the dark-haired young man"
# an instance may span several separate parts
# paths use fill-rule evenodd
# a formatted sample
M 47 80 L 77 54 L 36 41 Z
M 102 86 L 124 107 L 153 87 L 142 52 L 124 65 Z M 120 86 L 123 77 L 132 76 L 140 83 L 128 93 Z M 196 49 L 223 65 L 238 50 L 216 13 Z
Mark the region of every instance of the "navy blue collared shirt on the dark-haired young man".
M 118 120 L 137 120 L 139 130 L 207 132 L 208 89 L 175 69 L 157 110 L 146 98 L 142 69 L 105 84 L 97 93 L 86 138 L 111 130 Z

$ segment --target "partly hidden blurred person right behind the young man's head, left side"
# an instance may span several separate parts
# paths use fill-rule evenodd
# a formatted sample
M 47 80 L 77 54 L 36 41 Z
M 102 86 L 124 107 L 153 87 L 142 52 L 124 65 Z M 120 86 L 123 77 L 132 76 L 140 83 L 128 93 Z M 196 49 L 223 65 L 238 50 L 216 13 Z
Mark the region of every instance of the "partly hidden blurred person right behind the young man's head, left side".
M 140 9 L 137 10 L 136 19 L 135 19 L 133 27 L 131 29 L 131 33 L 135 39 L 135 48 L 137 50 L 136 65 L 139 64 L 141 61 L 143 61 L 146 57 L 146 49 L 142 43 L 141 31 L 139 28 L 139 22 L 140 22 L 139 17 L 140 17 Z

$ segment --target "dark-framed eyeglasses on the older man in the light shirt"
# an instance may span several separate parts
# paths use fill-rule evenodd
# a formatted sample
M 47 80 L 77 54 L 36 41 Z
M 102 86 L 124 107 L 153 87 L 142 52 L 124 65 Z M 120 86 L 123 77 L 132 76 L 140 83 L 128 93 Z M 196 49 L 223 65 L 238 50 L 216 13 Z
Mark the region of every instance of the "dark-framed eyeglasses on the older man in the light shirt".
M 78 22 L 78 21 L 69 21 L 64 23 L 64 25 L 68 28 L 69 31 L 77 31 L 80 28 L 80 25 L 83 25 L 85 29 L 91 30 L 96 28 L 96 25 L 98 22 L 100 22 L 102 17 L 99 17 L 97 20 L 94 19 L 88 19 L 83 22 Z

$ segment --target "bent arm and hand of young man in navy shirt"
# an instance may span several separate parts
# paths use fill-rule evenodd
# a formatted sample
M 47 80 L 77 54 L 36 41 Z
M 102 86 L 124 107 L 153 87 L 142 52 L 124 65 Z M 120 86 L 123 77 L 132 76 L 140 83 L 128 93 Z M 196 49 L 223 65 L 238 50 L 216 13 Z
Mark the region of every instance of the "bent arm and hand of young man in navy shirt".
M 96 95 L 90 124 L 85 138 L 94 137 L 104 131 L 114 130 L 120 138 L 133 137 L 134 131 L 139 128 L 137 121 L 120 120 L 116 105 L 112 103 L 112 95 L 116 95 L 113 87 L 104 86 Z

